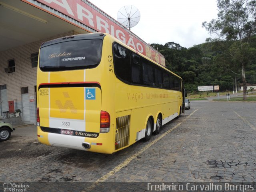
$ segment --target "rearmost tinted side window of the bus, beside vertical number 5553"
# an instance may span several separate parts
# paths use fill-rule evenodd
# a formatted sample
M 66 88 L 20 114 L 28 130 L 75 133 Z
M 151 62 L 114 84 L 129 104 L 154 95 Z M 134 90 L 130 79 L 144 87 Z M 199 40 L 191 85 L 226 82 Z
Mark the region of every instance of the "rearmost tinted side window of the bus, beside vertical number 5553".
M 116 76 L 123 81 L 131 82 L 130 51 L 114 44 L 114 69 Z

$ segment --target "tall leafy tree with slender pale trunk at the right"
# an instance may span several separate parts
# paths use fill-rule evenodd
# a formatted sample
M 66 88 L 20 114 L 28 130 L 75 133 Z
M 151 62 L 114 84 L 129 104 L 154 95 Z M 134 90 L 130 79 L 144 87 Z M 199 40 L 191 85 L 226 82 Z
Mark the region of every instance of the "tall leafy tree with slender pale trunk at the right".
M 203 22 L 210 34 L 233 41 L 229 54 L 233 63 L 242 68 L 244 100 L 246 100 L 245 67 L 252 60 L 256 49 L 250 47 L 250 39 L 256 34 L 256 0 L 217 0 L 218 19 Z

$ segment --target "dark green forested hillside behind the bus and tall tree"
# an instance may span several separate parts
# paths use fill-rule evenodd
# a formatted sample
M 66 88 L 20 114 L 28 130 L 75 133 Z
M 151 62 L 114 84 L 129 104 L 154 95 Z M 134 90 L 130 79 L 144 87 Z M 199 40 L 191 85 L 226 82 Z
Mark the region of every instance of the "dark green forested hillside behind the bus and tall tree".
M 256 36 L 250 41 L 250 51 L 256 53 Z M 207 39 L 205 43 L 191 48 L 184 48 L 174 42 L 151 46 L 164 55 L 166 68 L 183 78 L 185 88 L 195 92 L 197 86 L 207 85 L 219 85 L 220 91 L 232 91 L 235 77 L 238 83 L 242 82 L 241 68 L 229 55 L 233 44 L 234 41 Z M 245 72 L 246 82 L 256 84 L 256 54 L 246 65 Z

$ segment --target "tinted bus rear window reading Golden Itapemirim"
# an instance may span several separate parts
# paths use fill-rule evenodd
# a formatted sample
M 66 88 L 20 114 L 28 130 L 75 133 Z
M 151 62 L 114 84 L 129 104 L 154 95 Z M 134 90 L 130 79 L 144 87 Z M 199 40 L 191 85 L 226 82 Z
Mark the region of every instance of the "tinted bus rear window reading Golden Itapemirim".
M 42 47 L 42 71 L 63 71 L 96 67 L 101 60 L 102 40 L 73 40 Z

